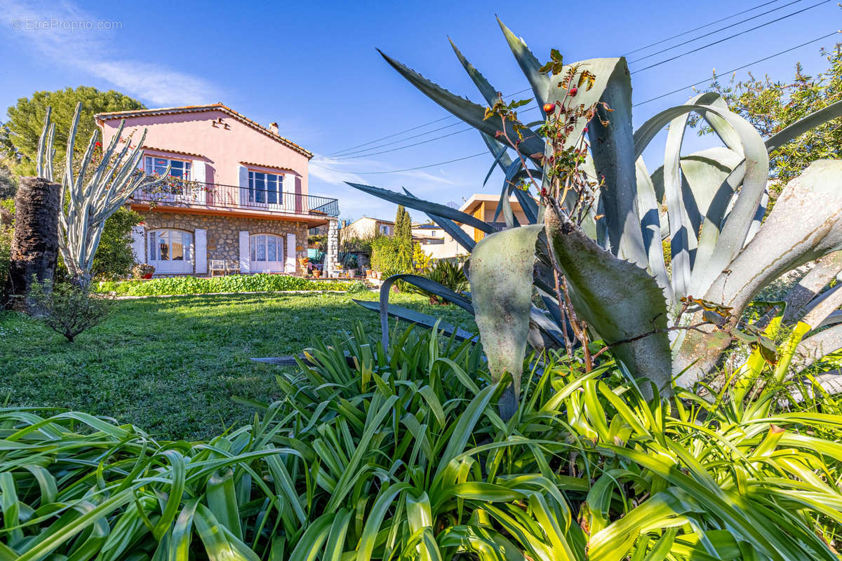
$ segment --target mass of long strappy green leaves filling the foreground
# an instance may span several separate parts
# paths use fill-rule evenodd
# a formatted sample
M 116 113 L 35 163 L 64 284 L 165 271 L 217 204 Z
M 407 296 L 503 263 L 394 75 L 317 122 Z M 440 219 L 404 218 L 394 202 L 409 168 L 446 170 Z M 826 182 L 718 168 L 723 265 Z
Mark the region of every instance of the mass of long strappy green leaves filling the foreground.
M 584 373 L 549 353 L 504 422 L 478 345 L 393 341 L 384 352 L 359 326 L 320 337 L 300 372 L 280 371 L 284 400 L 210 442 L 0 410 L 0 555 L 837 558 L 832 396 L 761 395 L 768 415 L 727 391 L 670 406 L 607 355 Z

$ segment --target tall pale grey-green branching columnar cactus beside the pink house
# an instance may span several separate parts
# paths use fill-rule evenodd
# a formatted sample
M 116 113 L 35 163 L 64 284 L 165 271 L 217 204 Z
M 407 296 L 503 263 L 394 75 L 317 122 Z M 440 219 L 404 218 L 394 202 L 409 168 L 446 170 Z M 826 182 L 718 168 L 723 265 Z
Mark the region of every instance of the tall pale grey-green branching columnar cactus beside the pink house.
M 163 177 L 153 178 L 139 169 L 138 164 L 143 157 L 141 146 L 147 135 L 146 130 L 134 148 L 131 148 L 130 142 L 125 142 L 125 146 L 118 151 L 117 144 L 125 125 L 123 121 L 86 182 L 88 167 L 91 166 L 97 146 L 98 133 L 94 132 L 91 135 L 78 171 L 74 172 L 73 146 L 81 113 L 82 103 L 77 103 L 67 137 L 67 155 L 64 175 L 61 177 L 59 249 L 72 282 L 82 288 L 88 288 L 93 256 L 99 247 L 105 220 L 120 209 L 136 189 L 152 187 L 163 182 L 168 172 Z M 37 169 L 40 176 L 52 180 L 55 124 L 51 124 L 50 115 L 51 109 L 48 108 L 38 145 Z

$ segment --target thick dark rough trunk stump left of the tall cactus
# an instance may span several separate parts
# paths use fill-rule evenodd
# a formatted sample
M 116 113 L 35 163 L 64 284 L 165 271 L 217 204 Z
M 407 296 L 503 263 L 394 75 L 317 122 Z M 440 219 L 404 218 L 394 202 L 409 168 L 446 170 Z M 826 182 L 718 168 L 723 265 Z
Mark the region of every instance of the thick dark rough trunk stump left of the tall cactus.
M 21 177 L 14 198 L 14 236 L 3 294 L 8 307 L 24 308 L 32 276 L 52 280 L 58 258 L 61 185 L 43 177 Z

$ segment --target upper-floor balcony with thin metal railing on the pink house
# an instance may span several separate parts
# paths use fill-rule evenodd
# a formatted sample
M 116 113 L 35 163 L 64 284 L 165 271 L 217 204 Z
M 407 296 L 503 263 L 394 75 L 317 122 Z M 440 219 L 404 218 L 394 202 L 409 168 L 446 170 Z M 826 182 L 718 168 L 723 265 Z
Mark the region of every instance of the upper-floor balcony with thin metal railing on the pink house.
M 148 205 L 150 208 L 162 206 L 294 214 L 312 219 L 339 215 L 336 198 L 196 181 L 172 181 L 152 188 L 137 189 L 131 196 L 131 203 Z

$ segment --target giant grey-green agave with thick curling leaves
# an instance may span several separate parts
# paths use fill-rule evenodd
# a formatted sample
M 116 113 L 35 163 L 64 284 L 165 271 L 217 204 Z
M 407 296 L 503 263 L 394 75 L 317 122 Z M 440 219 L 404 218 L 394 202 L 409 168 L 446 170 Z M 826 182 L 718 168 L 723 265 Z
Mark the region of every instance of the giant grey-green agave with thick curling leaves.
M 566 212 L 569 208 L 557 212 L 545 206 L 536 193 L 546 186 L 545 156 L 552 151 L 535 124 L 530 128 L 497 114 L 489 116 L 482 105 L 448 92 L 386 55 L 386 61 L 415 87 L 481 133 L 493 156 L 492 170 L 499 167 L 505 173 L 498 214 L 504 215 L 507 229 L 493 233 L 481 220 L 415 198 L 406 189 L 396 193 L 349 183 L 423 211 L 472 251 L 470 296 L 432 286 L 429 280 L 400 277 L 424 283 L 425 289 L 476 315 L 496 378 L 509 371 L 517 381 L 527 340 L 540 347 L 562 339 L 566 326 L 548 280 L 552 262 L 561 269 L 573 308 L 590 331 L 611 347 L 624 368 L 651 380 L 662 394 L 669 394 L 671 379 L 686 388 L 708 377 L 736 341 L 769 346 L 760 333 L 762 325 L 745 325 L 743 313 L 776 278 L 817 259 L 819 266 L 784 302 L 786 323 L 808 325 L 793 369 L 806 368 L 842 347 L 842 317 L 834 312 L 842 304 L 842 290 L 837 285 L 823 291 L 842 272 L 842 162 L 814 162 L 786 186 L 770 213 L 765 212 L 770 152 L 842 115 L 842 103 L 763 140 L 716 93 L 702 93 L 633 130 L 632 85 L 625 58 L 563 65 L 555 52 L 553 61 L 560 67 L 546 71 L 523 40 L 504 24 L 500 26 L 539 106 L 565 103 L 568 91 L 562 87 L 563 77 L 591 82 L 589 88 L 579 87 L 575 101 L 583 107 L 598 106 L 598 118 L 580 119 L 569 135 L 573 140 L 589 140 L 585 173 L 603 178 L 598 201 L 585 220 L 573 220 Z M 453 48 L 492 106 L 499 99 L 497 89 L 456 45 Z M 690 114 L 704 119 L 723 146 L 683 155 Z M 669 132 L 663 166 L 650 173 L 642 152 L 665 126 Z M 497 140 L 518 132 L 522 140 L 517 143 Z M 531 192 L 516 188 L 527 176 L 540 181 Z M 514 218 L 509 202 L 513 194 L 527 225 Z M 459 225 L 490 235 L 475 245 Z M 663 241 L 669 241 L 671 248 L 669 268 Z M 533 289 L 546 310 L 531 303 Z M 409 318 L 405 310 L 389 305 L 387 298 L 386 289 L 379 306 L 383 325 L 386 313 L 418 321 L 416 314 Z M 424 320 L 428 325 L 433 321 Z M 819 327 L 825 329 L 816 332 Z

